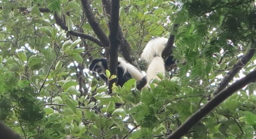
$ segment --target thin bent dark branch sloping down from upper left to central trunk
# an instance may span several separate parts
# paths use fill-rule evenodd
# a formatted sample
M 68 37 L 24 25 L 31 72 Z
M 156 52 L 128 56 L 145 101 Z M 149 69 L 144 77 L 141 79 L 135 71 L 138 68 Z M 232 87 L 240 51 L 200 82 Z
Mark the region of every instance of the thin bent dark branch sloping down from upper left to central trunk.
M 56 23 L 64 30 L 68 31 L 68 28 L 67 26 L 65 25 L 64 21 L 57 15 L 57 13 L 54 14 L 54 18 L 55 18 L 55 21 Z M 104 47 L 104 45 L 100 42 L 99 39 L 91 36 L 91 35 L 87 35 L 87 34 L 84 34 L 84 33 L 80 33 L 80 32 L 75 32 L 73 30 L 71 31 L 68 31 L 69 34 L 73 35 L 73 36 L 76 36 L 76 37 L 81 37 L 81 38 L 84 38 L 84 39 L 88 39 L 92 42 L 95 42 L 96 44 L 98 44 L 99 46 L 101 47 Z

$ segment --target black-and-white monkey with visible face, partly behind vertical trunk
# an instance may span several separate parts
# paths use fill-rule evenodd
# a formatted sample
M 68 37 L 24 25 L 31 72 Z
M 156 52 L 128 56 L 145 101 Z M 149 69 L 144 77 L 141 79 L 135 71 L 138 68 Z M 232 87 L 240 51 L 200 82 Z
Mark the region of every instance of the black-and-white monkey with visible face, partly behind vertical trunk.
M 101 79 L 105 82 L 108 81 L 104 73 L 107 70 L 107 60 L 105 58 L 92 60 L 89 70 L 97 72 Z M 118 57 L 118 67 L 117 67 L 117 85 L 123 86 L 126 81 L 131 78 L 140 80 L 143 78 L 143 74 L 133 65 L 129 64 L 123 58 Z

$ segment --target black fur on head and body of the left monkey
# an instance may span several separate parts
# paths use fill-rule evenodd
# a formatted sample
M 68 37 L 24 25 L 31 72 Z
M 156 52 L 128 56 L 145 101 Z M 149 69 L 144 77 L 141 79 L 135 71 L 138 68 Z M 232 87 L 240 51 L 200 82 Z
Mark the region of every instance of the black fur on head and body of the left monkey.
M 98 62 L 102 62 L 103 67 L 104 67 L 105 69 L 108 69 L 108 68 L 107 68 L 107 60 L 106 60 L 105 58 L 102 58 L 102 59 L 94 59 L 94 60 L 92 60 L 90 66 L 89 66 L 89 70 L 92 70 L 92 71 L 93 71 L 93 67 L 94 67 Z M 98 65 L 96 65 L 96 66 L 98 66 Z M 103 69 L 102 67 L 101 67 L 101 68 L 100 68 L 100 67 L 95 67 L 95 68 L 101 69 L 101 70 Z M 95 68 L 94 68 L 94 69 L 95 69 Z M 101 70 L 100 70 L 100 71 L 101 71 Z M 98 70 L 98 72 L 100 72 L 100 71 Z M 97 71 L 94 71 L 94 72 L 97 72 Z M 97 73 L 98 73 L 98 72 L 97 72 Z M 103 80 L 107 83 L 108 79 L 107 79 L 107 77 L 106 77 L 104 74 L 99 74 L 99 76 L 100 76 L 101 79 L 103 79 Z M 131 76 L 131 74 L 130 74 L 129 72 L 126 72 L 126 73 L 124 74 L 124 70 L 123 70 L 123 68 L 120 66 L 120 63 L 118 62 L 118 67 L 117 67 L 117 85 L 123 86 L 124 83 L 125 83 L 126 81 L 128 81 L 129 79 L 131 79 L 131 78 L 132 78 L 132 76 Z

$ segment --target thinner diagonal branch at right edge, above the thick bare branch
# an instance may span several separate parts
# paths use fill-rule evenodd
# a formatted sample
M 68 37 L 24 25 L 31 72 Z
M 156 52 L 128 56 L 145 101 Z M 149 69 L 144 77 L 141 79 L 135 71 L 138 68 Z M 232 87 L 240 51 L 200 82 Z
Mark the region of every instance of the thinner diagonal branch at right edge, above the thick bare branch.
M 252 44 L 253 47 L 255 44 Z M 241 58 L 241 60 L 238 60 L 238 62 L 232 67 L 232 69 L 224 76 L 222 81 L 218 84 L 218 87 L 213 92 L 213 94 L 219 93 L 221 90 L 223 90 L 228 83 L 234 78 L 234 76 L 246 65 L 250 59 L 253 57 L 255 53 L 255 48 L 249 49 L 247 53 Z

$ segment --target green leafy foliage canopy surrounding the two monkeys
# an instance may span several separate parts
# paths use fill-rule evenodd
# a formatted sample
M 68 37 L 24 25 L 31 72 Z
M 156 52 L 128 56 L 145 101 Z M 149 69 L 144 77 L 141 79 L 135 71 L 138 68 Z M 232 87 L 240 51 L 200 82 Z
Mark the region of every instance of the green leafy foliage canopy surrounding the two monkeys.
M 23 138 L 166 138 L 255 70 L 254 0 L 123 0 L 120 56 L 145 71 L 145 44 L 175 35 L 178 63 L 157 87 L 140 91 L 131 79 L 108 94 L 88 65 L 107 56 L 109 2 L 0 1 L 0 119 Z M 253 138 L 255 88 L 235 92 L 183 138 Z

